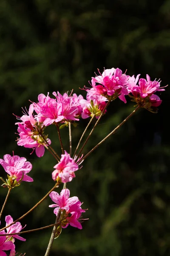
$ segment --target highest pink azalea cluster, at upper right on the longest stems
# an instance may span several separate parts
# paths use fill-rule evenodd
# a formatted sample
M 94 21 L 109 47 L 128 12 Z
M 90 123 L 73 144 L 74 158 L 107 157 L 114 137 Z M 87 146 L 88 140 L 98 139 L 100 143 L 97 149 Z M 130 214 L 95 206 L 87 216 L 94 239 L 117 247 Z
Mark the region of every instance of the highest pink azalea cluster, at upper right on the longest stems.
M 139 107 L 152 111 L 152 107 L 158 107 L 161 104 L 159 96 L 155 95 L 156 91 L 163 91 L 160 87 L 160 81 L 150 81 L 150 76 L 146 79 L 139 79 L 139 76 L 128 76 L 122 74 L 119 68 L 106 69 L 99 76 L 92 77 L 92 88 L 84 87 L 89 96 L 105 96 L 106 99 L 112 101 L 119 97 L 126 103 L 125 95 L 133 98 Z M 138 84 L 137 84 L 138 83 Z M 132 94 L 132 96 L 130 95 Z

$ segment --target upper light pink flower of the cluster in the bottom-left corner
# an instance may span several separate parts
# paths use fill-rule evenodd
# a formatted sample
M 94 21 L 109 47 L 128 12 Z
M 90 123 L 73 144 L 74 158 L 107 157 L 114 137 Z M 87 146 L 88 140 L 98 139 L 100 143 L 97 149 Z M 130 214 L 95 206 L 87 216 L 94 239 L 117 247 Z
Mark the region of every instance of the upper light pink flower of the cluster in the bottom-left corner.
M 13 222 L 13 218 L 8 215 L 6 216 L 5 218 L 5 221 L 6 221 L 6 226 L 10 225 L 12 222 Z M 15 224 L 11 225 L 10 227 L 7 227 L 6 230 L 7 230 L 7 235 L 8 235 L 8 238 L 9 237 L 13 237 L 13 239 L 19 239 L 21 241 L 26 241 L 25 238 L 19 236 L 19 235 L 11 235 L 12 233 L 19 233 L 21 230 L 23 229 L 22 225 L 20 224 L 20 222 L 16 222 Z

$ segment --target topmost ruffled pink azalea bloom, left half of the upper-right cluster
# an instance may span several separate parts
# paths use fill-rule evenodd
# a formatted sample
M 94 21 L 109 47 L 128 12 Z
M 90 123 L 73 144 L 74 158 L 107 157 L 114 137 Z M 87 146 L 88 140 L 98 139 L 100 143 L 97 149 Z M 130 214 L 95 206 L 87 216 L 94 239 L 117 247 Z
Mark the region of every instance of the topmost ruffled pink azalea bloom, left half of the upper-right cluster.
M 92 89 L 85 87 L 85 90 L 94 94 L 100 94 L 107 99 L 113 100 L 119 97 L 126 103 L 125 95 L 128 94 L 127 90 L 128 78 L 125 74 L 122 74 L 122 70 L 119 68 L 112 68 L 104 70 L 100 76 L 92 77 L 91 85 Z M 96 83 L 99 83 L 96 85 Z

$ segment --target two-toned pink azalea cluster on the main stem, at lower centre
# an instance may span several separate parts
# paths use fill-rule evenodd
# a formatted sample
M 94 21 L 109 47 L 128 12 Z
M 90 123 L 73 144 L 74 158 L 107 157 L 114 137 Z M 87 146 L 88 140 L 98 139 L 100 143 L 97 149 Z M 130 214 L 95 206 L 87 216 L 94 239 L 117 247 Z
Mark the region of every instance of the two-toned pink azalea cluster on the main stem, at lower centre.
M 70 224 L 72 227 L 82 229 L 79 221 L 81 221 L 82 212 L 85 212 L 85 210 L 81 208 L 82 203 L 79 201 L 79 198 L 77 196 L 70 198 L 69 189 L 62 189 L 60 195 L 53 191 L 50 193 L 50 197 L 55 204 L 51 204 L 49 207 L 56 207 L 54 209 L 56 216 L 60 211 L 60 226 L 66 228 Z

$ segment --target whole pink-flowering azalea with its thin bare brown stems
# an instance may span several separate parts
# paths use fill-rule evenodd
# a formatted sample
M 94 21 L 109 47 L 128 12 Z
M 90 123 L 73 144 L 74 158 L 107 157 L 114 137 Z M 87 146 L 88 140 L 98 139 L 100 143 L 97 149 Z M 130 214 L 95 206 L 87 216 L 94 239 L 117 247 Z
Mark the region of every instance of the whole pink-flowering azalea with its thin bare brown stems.
M 67 183 L 71 182 L 76 176 L 78 178 L 79 169 L 82 168 L 83 161 L 104 143 L 108 137 L 115 134 L 140 108 L 145 108 L 152 113 L 158 111 L 158 107 L 162 101 L 156 93 L 165 90 L 164 87 L 161 87 L 160 81 L 151 81 L 148 75 L 146 75 L 146 79 L 139 79 L 140 75 L 136 77 L 130 76 L 122 73 L 122 70 L 119 68 L 106 69 L 102 73 L 98 70 L 98 72 L 99 75 L 92 77 L 89 87 L 84 86 L 82 88 L 87 93 L 86 99 L 82 95 L 73 93 L 73 90 L 63 95 L 59 92 L 53 92 L 53 96 L 50 93 L 47 93 L 47 96 L 41 93 L 38 96 L 37 102 L 31 102 L 28 111 L 25 110 L 23 112 L 23 116 L 16 116 L 18 120 L 16 122 L 18 133 L 17 145 L 31 148 L 30 154 L 35 152 L 37 157 L 43 157 L 46 149 L 55 158 L 56 165 L 54 169 L 51 166 L 51 175 L 49 174 L 48 177 L 54 180 L 54 187 L 28 212 L 18 217 L 17 220 L 13 221 L 10 215 L 5 217 L 6 227 L 1 227 L 0 229 L 0 256 L 6 256 L 7 253 L 10 256 L 17 255 L 14 244 L 15 239 L 26 241 L 20 234 L 53 227 L 45 253 L 45 256 L 48 256 L 54 238 L 60 235 L 62 228 L 71 225 L 72 227 L 82 229 L 82 222 L 85 220 L 83 213 L 86 209 L 83 209 L 82 202 L 77 196 L 70 197 L 70 190 L 67 188 Z M 108 114 L 108 105 L 112 104 L 117 98 L 122 101 L 122 104 L 127 103 L 127 98 L 135 102 L 133 112 L 129 113 L 129 116 L 122 120 L 103 140 L 97 145 L 94 145 L 94 148 L 83 155 L 83 149 L 88 140 L 92 138 L 92 133 L 100 119 L 104 114 Z M 73 153 L 72 144 L 76 142 L 72 141 L 71 129 L 78 129 L 77 123 L 81 122 L 81 119 L 87 118 L 89 118 L 88 125 L 77 142 L 76 150 Z M 49 125 L 57 128 L 62 154 L 55 151 L 53 146 L 55 143 L 51 142 L 48 134 L 46 134 L 45 128 Z M 90 127 L 91 131 L 83 142 L 84 135 L 89 131 Z M 62 144 L 60 134 L 60 129 L 62 128 L 68 128 L 69 151 L 66 151 Z M 28 176 L 28 173 L 31 172 L 32 164 L 25 157 L 14 155 L 14 152 L 12 155 L 5 154 L 3 159 L 0 159 L 0 164 L 7 173 L 6 180 L 1 177 L 3 181 L 2 187 L 7 189 L 6 199 L 0 212 L 1 218 L 11 190 L 20 186 L 21 183 L 23 186 L 24 181 L 33 182 L 33 179 L 31 178 L 31 174 Z M 58 193 L 55 190 L 60 192 Z M 19 221 L 41 204 L 48 196 L 50 196 L 54 203 L 49 205 L 49 207 L 54 207 L 54 215 L 56 215 L 55 223 L 35 230 L 21 231 L 23 227 Z M 47 212 L 49 210 L 46 209 Z

